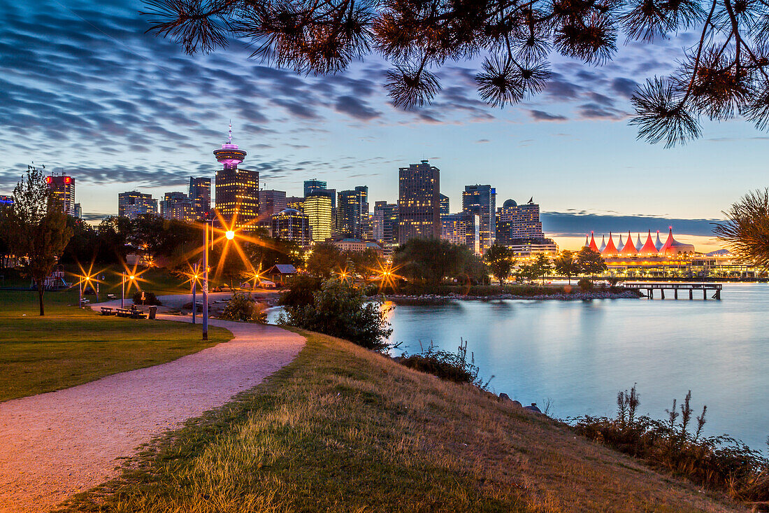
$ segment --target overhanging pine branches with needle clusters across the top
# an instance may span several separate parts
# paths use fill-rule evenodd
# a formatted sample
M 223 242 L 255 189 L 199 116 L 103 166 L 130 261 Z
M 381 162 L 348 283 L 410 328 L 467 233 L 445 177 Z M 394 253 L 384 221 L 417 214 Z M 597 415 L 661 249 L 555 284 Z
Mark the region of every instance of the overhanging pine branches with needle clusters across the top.
M 763 0 L 149 0 L 150 32 L 186 52 L 232 39 L 251 54 L 301 74 L 333 74 L 376 52 L 393 63 L 384 86 L 395 106 L 432 102 L 441 89 L 431 70 L 486 57 L 475 82 L 491 106 L 541 92 L 558 52 L 602 65 L 618 38 L 652 42 L 697 33 L 668 79 L 649 79 L 632 98 L 639 137 L 666 146 L 701 134 L 700 119 L 738 113 L 769 126 L 769 3 Z M 621 34 L 621 32 L 623 34 Z M 638 44 L 638 43 L 635 43 Z M 682 39 L 681 44 L 684 44 Z

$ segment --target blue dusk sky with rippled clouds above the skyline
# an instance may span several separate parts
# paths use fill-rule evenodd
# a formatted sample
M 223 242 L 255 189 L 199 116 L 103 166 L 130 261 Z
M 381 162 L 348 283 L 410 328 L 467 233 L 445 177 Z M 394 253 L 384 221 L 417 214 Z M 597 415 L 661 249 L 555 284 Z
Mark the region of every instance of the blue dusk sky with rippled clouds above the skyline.
M 464 185 L 489 183 L 498 205 L 533 196 L 544 230 L 564 247 L 584 233 L 674 226 L 713 249 L 711 223 L 748 190 L 764 187 L 769 136 L 741 119 L 704 124 L 675 149 L 635 139 L 629 97 L 667 75 L 693 37 L 621 47 L 602 67 L 553 59 L 540 96 L 494 109 L 481 102 L 478 62 L 454 62 L 424 109 L 395 109 L 376 55 L 333 76 L 301 76 L 248 59 L 242 42 L 185 55 L 145 34 L 141 2 L 0 0 L 0 193 L 34 161 L 75 177 L 84 217 L 117 212 L 118 193 L 186 192 L 210 176 L 226 139 L 248 152 L 261 183 L 301 195 L 317 177 L 330 188 L 368 185 L 371 203 L 398 196 L 398 167 L 429 159 L 441 192 L 461 207 Z

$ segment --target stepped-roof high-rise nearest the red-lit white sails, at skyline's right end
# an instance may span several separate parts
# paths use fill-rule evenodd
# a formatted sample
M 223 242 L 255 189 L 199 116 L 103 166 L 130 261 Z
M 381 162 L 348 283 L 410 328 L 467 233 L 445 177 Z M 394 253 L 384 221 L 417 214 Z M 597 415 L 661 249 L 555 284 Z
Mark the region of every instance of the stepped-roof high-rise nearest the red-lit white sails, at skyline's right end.
M 558 251 L 553 240 L 544 236 L 539 205 L 533 199 L 524 205 L 508 199 L 497 210 L 497 243 L 521 254 Z

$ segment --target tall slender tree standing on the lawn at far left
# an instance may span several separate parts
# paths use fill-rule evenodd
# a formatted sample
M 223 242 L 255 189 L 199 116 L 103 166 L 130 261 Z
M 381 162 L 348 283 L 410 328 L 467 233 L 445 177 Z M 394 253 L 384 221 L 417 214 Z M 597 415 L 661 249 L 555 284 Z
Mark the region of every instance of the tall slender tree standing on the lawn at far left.
M 32 277 L 38 288 L 40 315 L 45 315 L 45 278 L 62 256 L 72 229 L 67 215 L 45 183 L 42 169 L 27 166 L 27 175 L 13 189 L 13 205 L 6 220 L 12 226 L 8 244 L 22 260 L 22 272 Z

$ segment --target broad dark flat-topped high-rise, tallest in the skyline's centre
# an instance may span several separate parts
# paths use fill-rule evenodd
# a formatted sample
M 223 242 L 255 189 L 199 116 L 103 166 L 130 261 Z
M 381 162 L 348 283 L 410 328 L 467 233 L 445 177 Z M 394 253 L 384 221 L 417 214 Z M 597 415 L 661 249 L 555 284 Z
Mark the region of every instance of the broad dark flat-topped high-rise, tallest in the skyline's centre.
M 440 173 L 427 160 L 398 170 L 398 243 L 441 236 Z

